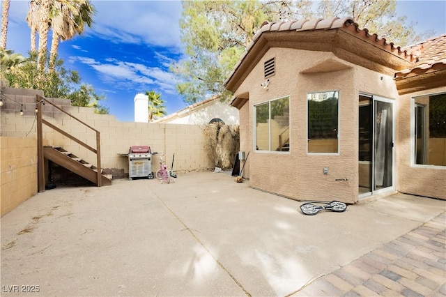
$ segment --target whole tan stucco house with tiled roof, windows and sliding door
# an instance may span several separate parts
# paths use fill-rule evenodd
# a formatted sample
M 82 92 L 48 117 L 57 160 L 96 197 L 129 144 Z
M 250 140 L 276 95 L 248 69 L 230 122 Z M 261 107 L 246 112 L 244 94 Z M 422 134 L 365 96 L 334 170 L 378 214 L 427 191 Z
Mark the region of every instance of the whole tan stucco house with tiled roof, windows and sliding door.
M 446 35 L 401 49 L 351 17 L 266 22 L 224 85 L 252 188 L 446 199 Z

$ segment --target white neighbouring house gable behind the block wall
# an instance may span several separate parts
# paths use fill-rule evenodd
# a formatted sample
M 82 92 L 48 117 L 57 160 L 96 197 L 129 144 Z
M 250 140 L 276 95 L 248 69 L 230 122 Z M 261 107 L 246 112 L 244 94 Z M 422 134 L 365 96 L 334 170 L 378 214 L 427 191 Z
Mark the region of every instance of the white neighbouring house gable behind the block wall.
M 213 122 L 223 122 L 228 125 L 238 125 L 238 109 L 227 102 L 222 102 L 217 96 L 197 102 L 178 112 L 163 116 L 155 123 L 176 123 L 189 125 L 204 125 Z

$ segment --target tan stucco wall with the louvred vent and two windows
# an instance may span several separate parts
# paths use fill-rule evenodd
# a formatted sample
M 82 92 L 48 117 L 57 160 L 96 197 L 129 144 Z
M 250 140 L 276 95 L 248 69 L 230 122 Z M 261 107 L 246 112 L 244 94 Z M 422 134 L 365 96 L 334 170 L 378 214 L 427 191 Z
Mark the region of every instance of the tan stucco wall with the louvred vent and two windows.
M 265 81 L 263 62 L 272 57 L 276 61 L 276 74 L 269 77 L 267 91 L 260 86 Z M 335 61 L 337 69 L 341 70 L 300 73 L 308 69 L 311 72 L 312 68 L 327 60 Z M 316 91 L 339 91 L 339 153 L 335 155 L 307 154 L 307 92 Z M 241 138 L 245 135 L 248 137 L 245 142 L 252 151 L 249 156 L 249 185 L 293 199 L 357 201 L 357 108 L 360 92 L 397 98 L 392 77 L 341 61 L 330 52 L 268 50 L 235 93 L 235 96 L 249 93 L 246 104 L 249 105 L 248 123 L 245 120 L 246 105 L 240 111 L 240 144 L 244 143 Z M 290 153 L 255 152 L 252 145 L 254 105 L 283 96 L 290 96 Z M 324 167 L 328 167 L 328 175 L 323 174 Z

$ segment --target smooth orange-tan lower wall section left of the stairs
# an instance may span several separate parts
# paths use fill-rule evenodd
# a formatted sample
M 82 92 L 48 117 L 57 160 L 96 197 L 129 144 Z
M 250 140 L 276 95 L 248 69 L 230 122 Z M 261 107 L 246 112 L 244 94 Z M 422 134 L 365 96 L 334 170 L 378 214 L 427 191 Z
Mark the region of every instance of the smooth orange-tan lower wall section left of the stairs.
M 1 215 L 37 193 L 36 139 L 0 137 Z

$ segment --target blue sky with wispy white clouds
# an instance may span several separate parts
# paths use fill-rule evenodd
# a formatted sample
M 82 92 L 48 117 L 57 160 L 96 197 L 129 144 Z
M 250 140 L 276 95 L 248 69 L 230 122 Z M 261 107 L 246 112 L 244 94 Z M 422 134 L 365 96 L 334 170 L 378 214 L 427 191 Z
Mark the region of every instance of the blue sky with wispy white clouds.
M 173 61 L 185 59 L 178 21 L 180 1 L 92 1 L 97 12 L 92 29 L 62 42 L 59 56 L 83 81 L 107 98 L 103 105 L 119 121 L 134 121 L 137 93 L 161 93 L 167 113 L 185 107 L 176 93 Z M 28 1 L 11 0 L 6 47 L 24 55 L 30 47 L 26 24 Z M 417 23 L 419 33 L 446 33 L 446 1 L 397 1 L 398 15 Z M 390 40 L 391 41 L 391 40 Z

